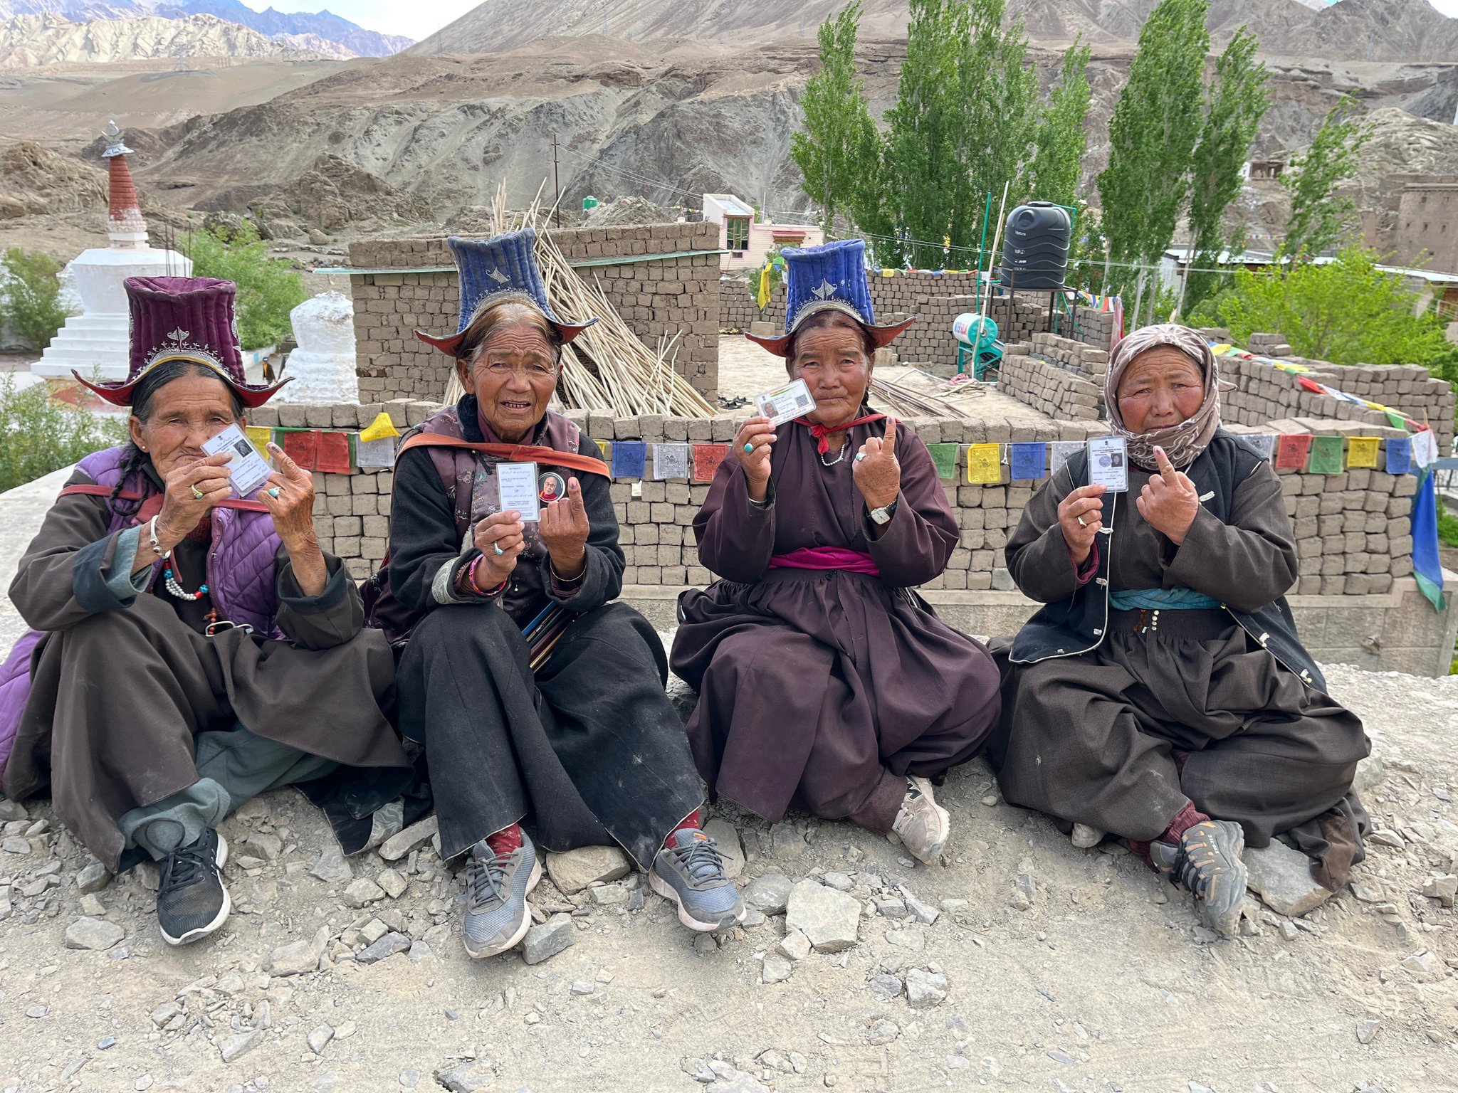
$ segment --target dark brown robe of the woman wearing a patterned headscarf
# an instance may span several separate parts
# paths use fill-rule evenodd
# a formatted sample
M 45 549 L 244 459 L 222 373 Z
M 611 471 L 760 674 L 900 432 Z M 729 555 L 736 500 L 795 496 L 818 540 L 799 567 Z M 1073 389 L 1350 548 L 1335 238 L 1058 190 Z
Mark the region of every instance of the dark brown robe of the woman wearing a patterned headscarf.
M 1149 472 L 1130 466 L 1110 551 L 1110 590 L 1188 587 L 1241 611 L 1283 596 L 1296 542 L 1268 463 L 1235 487 L 1231 522 L 1201 507 L 1178 548 L 1139 514 Z M 1060 468 L 1007 541 L 1018 587 L 1042 603 L 1079 589 L 1059 526 L 1073 482 Z M 1105 513 L 1108 512 L 1105 495 Z M 1086 595 L 1095 595 L 1089 590 Z M 1352 790 L 1368 751 L 1362 721 L 1251 641 L 1225 611 L 1162 611 L 1140 632 L 1111 612 L 1102 644 L 1080 656 L 1013 665 L 1006 643 L 1003 724 L 990 756 L 1003 796 L 1064 822 L 1153 839 L 1187 802 L 1238 820 L 1248 845 L 1289 834 L 1340 886 L 1362 860 L 1366 813 Z M 1178 755 L 1177 755 L 1178 752 Z

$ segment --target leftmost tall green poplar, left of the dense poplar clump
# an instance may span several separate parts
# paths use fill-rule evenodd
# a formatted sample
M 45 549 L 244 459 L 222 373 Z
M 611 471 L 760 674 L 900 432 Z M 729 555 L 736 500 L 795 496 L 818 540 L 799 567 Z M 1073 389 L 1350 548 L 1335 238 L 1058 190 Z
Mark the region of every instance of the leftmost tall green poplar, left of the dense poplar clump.
M 806 195 L 821 208 L 821 226 L 854 217 L 863 203 L 857 191 L 879 157 L 879 136 L 866 105 L 865 82 L 856 71 L 860 0 L 851 0 L 819 28 L 821 68 L 805 83 L 805 122 L 790 136 L 790 159 L 805 178 Z

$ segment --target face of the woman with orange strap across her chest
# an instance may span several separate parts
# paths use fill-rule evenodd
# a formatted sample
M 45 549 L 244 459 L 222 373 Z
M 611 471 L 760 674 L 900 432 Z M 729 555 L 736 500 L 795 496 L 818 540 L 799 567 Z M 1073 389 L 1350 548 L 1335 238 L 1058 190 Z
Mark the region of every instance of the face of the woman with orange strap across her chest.
M 526 322 L 493 326 L 469 363 L 456 369 L 461 385 L 480 402 L 481 417 L 512 444 L 542 420 L 557 388 L 551 342 Z

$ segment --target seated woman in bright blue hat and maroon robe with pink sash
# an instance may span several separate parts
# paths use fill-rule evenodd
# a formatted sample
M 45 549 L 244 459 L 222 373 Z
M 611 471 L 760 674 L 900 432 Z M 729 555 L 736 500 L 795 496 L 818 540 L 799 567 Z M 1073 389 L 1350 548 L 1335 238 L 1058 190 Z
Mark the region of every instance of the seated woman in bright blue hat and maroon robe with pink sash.
M 958 526 L 926 444 L 868 404 L 875 351 L 910 322 L 876 325 L 859 239 L 784 258 L 786 332 L 752 340 L 815 408 L 745 421 L 694 519 L 722 580 L 679 599 L 688 737 L 710 788 L 751 812 L 850 818 L 932 863 L 951 832 L 932 783 L 981 749 L 997 672 L 914 592 Z

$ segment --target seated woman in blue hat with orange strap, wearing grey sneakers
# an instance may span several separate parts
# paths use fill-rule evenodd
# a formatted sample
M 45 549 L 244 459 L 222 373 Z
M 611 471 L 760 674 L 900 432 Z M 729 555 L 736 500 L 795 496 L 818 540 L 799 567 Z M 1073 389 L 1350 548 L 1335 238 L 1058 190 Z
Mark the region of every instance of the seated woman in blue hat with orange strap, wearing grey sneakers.
M 424 742 L 442 851 L 467 854 L 465 947 L 506 952 L 547 850 L 620 845 L 691 930 L 729 927 L 744 902 L 698 828 L 703 788 L 663 685 L 652 625 L 614 603 L 623 549 L 598 446 L 548 410 L 560 319 L 531 229 L 449 239 L 461 273 L 452 337 L 465 395 L 399 449 L 391 513 L 399 723 Z M 539 519 L 502 503 L 534 465 Z M 510 494 L 507 494 L 510 497 Z M 531 834 L 528 834 L 528 829 Z

